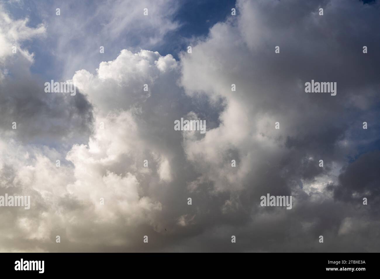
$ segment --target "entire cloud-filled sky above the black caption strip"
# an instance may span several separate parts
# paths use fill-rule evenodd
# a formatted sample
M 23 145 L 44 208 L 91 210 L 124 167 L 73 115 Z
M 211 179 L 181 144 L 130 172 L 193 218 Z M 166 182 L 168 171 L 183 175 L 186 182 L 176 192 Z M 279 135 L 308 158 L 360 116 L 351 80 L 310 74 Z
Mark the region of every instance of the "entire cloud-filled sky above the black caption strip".
M 0 252 L 379 252 L 379 13 L 0 1 Z

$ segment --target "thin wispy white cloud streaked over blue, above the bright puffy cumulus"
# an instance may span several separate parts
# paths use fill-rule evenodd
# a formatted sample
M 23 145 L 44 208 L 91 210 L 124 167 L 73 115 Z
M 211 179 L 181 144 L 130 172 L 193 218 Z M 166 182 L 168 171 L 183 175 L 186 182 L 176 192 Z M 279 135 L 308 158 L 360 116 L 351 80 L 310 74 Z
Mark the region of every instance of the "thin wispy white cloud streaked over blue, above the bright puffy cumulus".
M 41 5 L 41 17 L 57 38 L 47 44 L 62 64 L 63 70 L 57 74 L 65 79 L 80 69 L 92 71 L 104 59 L 113 60 L 122 47 L 133 51 L 152 49 L 179 27 L 173 20 L 179 6 L 174 0 L 107 1 L 90 9 L 76 1 L 57 1 L 52 5 L 54 9 L 46 9 L 43 3 L 36 5 Z M 61 16 L 55 16 L 55 6 L 60 7 Z M 144 16 L 144 8 L 148 16 Z M 100 46 L 105 49 L 103 54 Z

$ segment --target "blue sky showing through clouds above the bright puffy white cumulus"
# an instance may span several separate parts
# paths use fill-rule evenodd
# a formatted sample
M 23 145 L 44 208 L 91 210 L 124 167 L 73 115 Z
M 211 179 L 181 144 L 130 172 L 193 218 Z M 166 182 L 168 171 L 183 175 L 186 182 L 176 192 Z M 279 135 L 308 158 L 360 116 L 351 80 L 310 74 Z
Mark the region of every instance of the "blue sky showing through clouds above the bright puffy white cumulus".
M 138 50 L 144 48 L 147 50 L 158 51 L 161 55 L 172 54 L 178 60 L 179 52 L 184 51 L 192 42 L 194 38 L 204 38 L 214 24 L 226 19 L 231 13 L 231 9 L 235 4 L 234 0 L 185 0 L 181 1 L 173 14 L 169 14 L 169 20 L 178 23 L 178 27 L 174 30 L 168 31 L 159 42 L 155 44 L 145 44 L 141 41 L 139 34 L 124 30 L 119 33 L 119 36 L 109 42 L 103 42 L 102 45 L 106 47 L 104 54 L 93 56 L 91 64 L 80 64 L 79 66 L 93 66 L 96 67 L 101 61 L 113 60 L 122 49 Z M 33 39 L 26 42 L 30 52 L 35 53 L 35 61 L 31 67 L 31 71 L 40 75 L 43 78 L 70 78 L 74 72 L 63 73 L 63 65 L 61 61 L 56 59 L 56 41 L 55 30 L 49 24 L 52 20 L 59 20 L 55 16 L 55 9 L 61 8 L 62 15 L 64 13 L 75 13 L 79 19 L 91 18 L 95 13 L 97 6 L 93 5 L 92 1 L 76 1 L 70 2 L 70 5 L 62 8 L 59 1 L 28 1 L 28 2 L 11 2 L 4 5 L 13 19 L 29 19 L 28 26 L 36 27 L 41 23 L 47 25 L 47 38 Z M 227 9 L 227 7 L 229 9 Z M 128 7 L 125 7 L 128 8 Z M 42 11 L 43 12 L 42 12 Z M 49 11 L 49 13 L 48 13 Z M 128 11 L 128 9 L 127 9 Z M 126 13 L 127 16 L 128 13 Z M 90 24 L 86 25 L 86 33 L 83 37 L 76 37 L 70 39 L 70 44 L 67 45 L 73 51 L 77 48 L 78 53 L 84 47 L 84 37 L 89 41 L 93 36 L 96 36 L 97 29 L 101 28 L 102 22 L 93 20 Z M 139 31 L 141 32 L 141 30 Z M 58 34 L 57 34 L 58 36 Z M 98 52 L 98 46 L 93 45 L 93 52 Z M 86 54 L 83 54 L 86 55 Z M 64 58 L 62 58 L 64 59 Z M 76 69 L 77 70 L 77 69 Z M 94 71 L 93 69 L 87 69 Z

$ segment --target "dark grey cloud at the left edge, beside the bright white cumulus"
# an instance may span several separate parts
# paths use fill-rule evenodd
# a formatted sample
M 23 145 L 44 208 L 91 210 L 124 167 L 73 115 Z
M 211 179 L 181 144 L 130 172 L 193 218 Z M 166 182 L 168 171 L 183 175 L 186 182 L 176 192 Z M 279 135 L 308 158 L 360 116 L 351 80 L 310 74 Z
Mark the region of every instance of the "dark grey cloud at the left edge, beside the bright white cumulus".
M 23 143 L 60 146 L 86 142 L 92 131 L 92 105 L 77 92 L 45 93 L 44 82 L 9 78 L 0 85 L 0 129 Z M 67 96 L 65 96 L 67 95 Z M 12 122 L 17 129 L 12 130 Z

